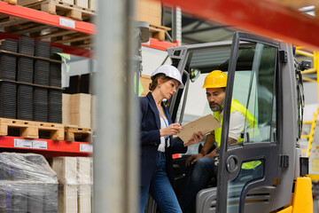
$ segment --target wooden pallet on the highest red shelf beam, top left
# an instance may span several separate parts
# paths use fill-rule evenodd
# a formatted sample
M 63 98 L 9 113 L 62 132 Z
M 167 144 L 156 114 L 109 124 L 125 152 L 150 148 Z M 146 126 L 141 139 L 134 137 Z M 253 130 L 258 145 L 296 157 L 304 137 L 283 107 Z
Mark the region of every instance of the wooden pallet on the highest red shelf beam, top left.
M 58 0 L 19 0 L 18 4 L 54 15 L 66 16 L 74 20 L 91 21 L 96 14 L 89 8 L 67 4 Z

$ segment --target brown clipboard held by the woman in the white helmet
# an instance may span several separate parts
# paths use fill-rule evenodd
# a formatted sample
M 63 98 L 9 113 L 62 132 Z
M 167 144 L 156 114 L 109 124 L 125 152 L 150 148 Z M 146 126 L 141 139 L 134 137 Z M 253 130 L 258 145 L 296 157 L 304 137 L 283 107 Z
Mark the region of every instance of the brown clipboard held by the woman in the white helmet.
M 198 120 L 183 125 L 183 130 L 180 130 L 176 136 L 181 138 L 185 144 L 192 138 L 194 132 L 201 131 L 203 135 L 206 135 L 208 132 L 220 127 L 221 123 L 217 121 L 213 114 L 207 114 L 198 118 Z

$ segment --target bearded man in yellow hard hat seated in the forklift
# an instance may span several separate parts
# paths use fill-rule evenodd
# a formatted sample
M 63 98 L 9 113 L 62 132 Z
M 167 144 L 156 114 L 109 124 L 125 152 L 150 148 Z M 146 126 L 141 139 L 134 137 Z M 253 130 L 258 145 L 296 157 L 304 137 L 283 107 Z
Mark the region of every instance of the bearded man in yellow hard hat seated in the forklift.
M 206 88 L 206 98 L 208 104 L 214 113 L 214 117 L 221 122 L 221 124 L 223 107 L 225 103 L 226 83 L 227 75 L 220 70 L 214 70 L 206 76 L 203 85 L 203 88 Z M 228 138 L 229 145 L 243 141 L 241 135 L 244 133 L 245 117 L 246 123 L 248 123 L 249 126 L 256 126 L 253 114 L 250 114 L 246 110 L 245 106 L 240 104 L 236 99 L 232 99 L 230 109 L 230 130 Z M 221 137 L 222 127 L 212 131 L 206 136 L 205 144 L 199 154 L 191 155 L 187 159 L 185 188 L 181 201 L 183 213 L 195 212 L 197 193 L 206 186 L 207 180 L 216 176 L 214 170 L 214 156 L 221 145 Z M 245 168 L 244 163 L 242 169 L 250 170 L 261 164 L 261 162 L 249 163 L 255 164 L 247 164 L 247 168 Z

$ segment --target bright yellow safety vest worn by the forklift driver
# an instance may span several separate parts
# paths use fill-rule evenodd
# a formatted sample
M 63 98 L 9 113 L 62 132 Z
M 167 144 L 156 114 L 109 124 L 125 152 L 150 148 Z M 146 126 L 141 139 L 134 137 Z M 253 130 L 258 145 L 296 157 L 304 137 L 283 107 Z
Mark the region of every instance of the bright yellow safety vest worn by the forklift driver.
M 253 138 L 253 136 L 257 136 L 260 134 L 259 130 L 258 130 L 258 124 L 256 122 L 255 117 L 253 116 L 253 114 L 251 114 L 246 108 L 245 106 L 243 106 L 241 103 L 239 103 L 237 101 L 237 99 L 232 99 L 231 100 L 231 106 L 230 106 L 230 114 L 234 111 L 238 111 L 242 114 L 244 114 L 245 118 L 246 118 L 246 122 L 248 122 L 249 124 L 249 134 L 250 137 Z M 214 112 L 214 117 L 221 122 L 222 125 L 222 118 L 220 121 L 220 117 L 219 117 L 219 113 L 218 112 Z M 214 138 L 215 141 L 217 142 L 217 146 L 221 146 L 221 138 L 222 138 L 222 127 L 214 130 Z M 244 140 L 244 138 L 238 138 L 236 143 L 242 142 Z M 244 170 L 252 170 L 253 168 L 256 168 L 257 166 L 259 166 L 261 164 L 261 161 L 253 161 L 253 162 L 245 162 L 242 165 L 242 169 Z

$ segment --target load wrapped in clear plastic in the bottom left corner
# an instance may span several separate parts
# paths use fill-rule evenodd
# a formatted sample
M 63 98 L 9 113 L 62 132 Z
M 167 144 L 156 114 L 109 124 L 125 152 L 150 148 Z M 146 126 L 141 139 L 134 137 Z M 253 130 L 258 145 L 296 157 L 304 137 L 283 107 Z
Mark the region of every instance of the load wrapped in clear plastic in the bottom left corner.
M 0 212 L 58 211 L 58 178 L 40 154 L 0 154 Z

